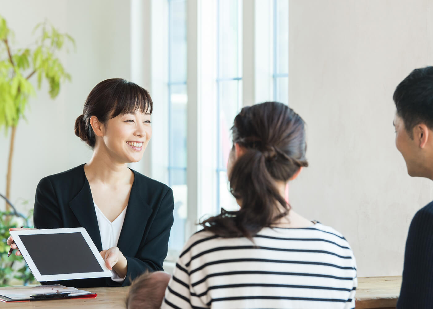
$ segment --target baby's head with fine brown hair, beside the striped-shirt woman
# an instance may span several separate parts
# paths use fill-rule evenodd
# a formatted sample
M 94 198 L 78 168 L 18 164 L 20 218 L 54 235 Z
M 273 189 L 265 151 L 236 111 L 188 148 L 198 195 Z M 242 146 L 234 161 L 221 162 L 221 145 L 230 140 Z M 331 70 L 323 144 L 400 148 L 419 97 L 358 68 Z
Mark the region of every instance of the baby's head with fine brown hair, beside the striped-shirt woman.
M 159 309 L 168 281 L 158 280 L 149 271 L 132 281 L 126 298 L 127 309 Z

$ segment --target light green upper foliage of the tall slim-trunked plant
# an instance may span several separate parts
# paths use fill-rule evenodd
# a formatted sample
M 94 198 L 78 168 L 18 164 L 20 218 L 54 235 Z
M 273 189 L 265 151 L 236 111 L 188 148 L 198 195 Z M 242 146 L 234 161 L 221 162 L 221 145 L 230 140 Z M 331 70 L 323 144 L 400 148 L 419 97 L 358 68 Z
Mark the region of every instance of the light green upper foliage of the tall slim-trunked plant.
M 65 43 L 75 46 L 74 39 L 47 23 L 38 24 L 33 33 L 37 31 L 40 36 L 33 49 L 14 50 L 10 47 L 13 32 L 0 16 L 0 129 L 15 127 L 24 117 L 29 97 L 36 94 L 29 82 L 33 75 L 37 77 L 38 89 L 43 80 L 48 82 L 48 93 L 52 99 L 57 97 L 60 84 L 71 80 L 57 52 L 65 48 Z

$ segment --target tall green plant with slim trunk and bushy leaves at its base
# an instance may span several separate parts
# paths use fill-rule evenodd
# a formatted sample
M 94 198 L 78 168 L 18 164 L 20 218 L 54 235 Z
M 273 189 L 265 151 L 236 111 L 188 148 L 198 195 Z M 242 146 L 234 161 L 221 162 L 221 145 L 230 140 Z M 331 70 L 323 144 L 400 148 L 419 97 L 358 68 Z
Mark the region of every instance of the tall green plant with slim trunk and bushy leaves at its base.
M 58 32 L 46 22 L 37 25 L 33 33 L 35 32 L 39 32 L 39 36 L 32 47 L 14 48 L 13 32 L 7 26 L 6 20 L 0 16 L 0 130 L 4 128 L 6 134 L 11 131 L 6 200 L 10 198 L 16 127 L 19 120 L 25 118 L 29 98 L 36 95 L 31 80 L 36 79 L 38 89 L 43 80 L 48 81 L 48 93 L 52 99 L 57 97 L 61 83 L 71 80 L 58 58 L 58 52 L 65 48 L 65 43 L 74 45 L 74 39 L 68 34 Z M 21 225 L 30 227 L 28 222 L 31 217 L 32 211 L 27 217 L 18 214 L 16 209 L 10 212 L 8 203 L 6 212 L 0 211 L 0 286 L 20 283 L 26 285 L 35 280 L 22 257 L 15 254 L 7 257 L 10 247 L 6 245 L 9 228 Z

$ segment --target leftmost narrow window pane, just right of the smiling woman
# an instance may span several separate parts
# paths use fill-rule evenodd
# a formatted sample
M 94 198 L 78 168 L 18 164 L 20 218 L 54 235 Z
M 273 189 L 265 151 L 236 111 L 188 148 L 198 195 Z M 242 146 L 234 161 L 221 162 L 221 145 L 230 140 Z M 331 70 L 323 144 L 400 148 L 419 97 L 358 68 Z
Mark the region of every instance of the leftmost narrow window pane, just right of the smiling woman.
M 168 0 L 168 186 L 174 223 L 168 248 L 181 250 L 187 219 L 187 41 L 186 0 Z

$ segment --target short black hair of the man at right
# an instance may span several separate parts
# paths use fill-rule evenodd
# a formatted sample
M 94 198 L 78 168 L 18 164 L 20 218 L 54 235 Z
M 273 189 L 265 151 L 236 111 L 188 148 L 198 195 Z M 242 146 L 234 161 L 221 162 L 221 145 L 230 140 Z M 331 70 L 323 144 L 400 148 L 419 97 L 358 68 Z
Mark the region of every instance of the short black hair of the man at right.
M 424 123 L 433 129 L 433 67 L 412 71 L 394 91 L 397 115 L 413 138 L 412 129 Z

